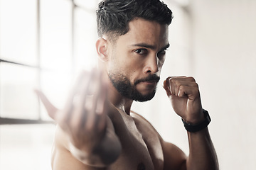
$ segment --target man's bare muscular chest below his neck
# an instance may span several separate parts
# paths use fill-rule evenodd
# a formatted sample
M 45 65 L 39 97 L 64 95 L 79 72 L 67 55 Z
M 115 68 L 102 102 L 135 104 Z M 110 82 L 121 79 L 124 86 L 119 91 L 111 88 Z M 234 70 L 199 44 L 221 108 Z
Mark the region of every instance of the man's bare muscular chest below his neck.
M 122 120 L 114 123 L 114 128 L 122 143 L 122 154 L 108 169 L 160 170 L 164 156 L 158 134 L 146 122 L 122 115 Z

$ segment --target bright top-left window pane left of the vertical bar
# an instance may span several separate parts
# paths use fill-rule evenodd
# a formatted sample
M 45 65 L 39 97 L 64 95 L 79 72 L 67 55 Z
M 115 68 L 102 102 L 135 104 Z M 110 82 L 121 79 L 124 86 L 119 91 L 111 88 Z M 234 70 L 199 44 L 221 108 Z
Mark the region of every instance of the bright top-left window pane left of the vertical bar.
M 36 1 L 0 1 L 1 59 L 36 64 Z

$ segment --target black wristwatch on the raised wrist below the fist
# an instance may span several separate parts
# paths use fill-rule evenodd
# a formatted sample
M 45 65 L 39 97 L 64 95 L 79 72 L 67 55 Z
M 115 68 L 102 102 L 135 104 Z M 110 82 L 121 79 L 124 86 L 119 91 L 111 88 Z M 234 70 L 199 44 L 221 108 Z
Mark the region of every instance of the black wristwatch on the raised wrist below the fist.
M 201 123 L 196 123 L 194 125 L 190 124 L 190 123 L 186 123 L 183 118 L 181 118 L 183 124 L 184 124 L 184 127 L 185 129 L 188 131 L 188 132 L 198 132 L 199 130 L 203 130 L 204 128 L 206 128 L 209 123 L 210 123 L 210 115 L 208 113 L 208 111 L 204 110 L 203 109 L 203 114 L 205 116 L 205 120 L 203 120 L 203 122 Z

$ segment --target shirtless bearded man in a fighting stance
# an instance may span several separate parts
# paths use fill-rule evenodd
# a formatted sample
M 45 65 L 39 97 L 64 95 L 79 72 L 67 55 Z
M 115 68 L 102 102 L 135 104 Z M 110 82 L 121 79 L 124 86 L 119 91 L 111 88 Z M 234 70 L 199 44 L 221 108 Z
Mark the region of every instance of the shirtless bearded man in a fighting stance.
M 58 123 L 52 166 L 65 169 L 218 169 L 207 111 L 192 77 L 168 77 L 164 89 L 188 130 L 188 157 L 165 142 L 132 102 L 154 97 L 172 13 L 159 0 L 105 0 L 97 10 L 98 69 L 83 72 L 63 110 L 40 91 Z M 99 71 L 100 70 L 100 71 Z

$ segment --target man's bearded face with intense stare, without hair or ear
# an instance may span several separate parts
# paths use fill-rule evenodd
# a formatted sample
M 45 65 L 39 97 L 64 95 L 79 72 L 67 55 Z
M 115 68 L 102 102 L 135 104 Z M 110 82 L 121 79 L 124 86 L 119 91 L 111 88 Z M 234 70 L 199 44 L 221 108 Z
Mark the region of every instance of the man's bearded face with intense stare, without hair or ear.
M 167 47 L 167 25 L 141 18 L 131 21 L 129 32 L 110 45 L 108 74 L 113 86 L 132 100 L 151 100 L 156 93 Z

